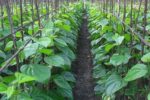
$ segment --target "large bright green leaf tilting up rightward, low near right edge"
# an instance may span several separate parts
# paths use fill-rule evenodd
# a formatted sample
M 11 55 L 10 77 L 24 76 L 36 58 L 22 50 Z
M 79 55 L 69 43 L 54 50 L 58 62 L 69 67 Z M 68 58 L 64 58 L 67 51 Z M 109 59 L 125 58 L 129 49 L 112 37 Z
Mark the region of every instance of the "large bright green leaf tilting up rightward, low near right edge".
M 148 68 L 144 64 L 136 64 L 134 65 L 127 73 L 127 75 L 124 77 L 125 81 L 133 81 L 138 78 L 141 78 L 145 76 L 148 72 Z

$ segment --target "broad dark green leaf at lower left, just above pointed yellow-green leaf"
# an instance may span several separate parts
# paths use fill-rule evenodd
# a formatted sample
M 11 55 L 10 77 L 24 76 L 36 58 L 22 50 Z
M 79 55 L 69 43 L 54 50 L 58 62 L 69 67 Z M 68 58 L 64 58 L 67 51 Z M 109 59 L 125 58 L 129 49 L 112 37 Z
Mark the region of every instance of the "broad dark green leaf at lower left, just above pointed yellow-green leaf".
M 50 68 L 42 64 L 23 65 L 21 72 L 34 77 L 38 82 L 45 82 L 51 76 Z

